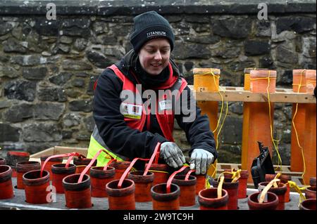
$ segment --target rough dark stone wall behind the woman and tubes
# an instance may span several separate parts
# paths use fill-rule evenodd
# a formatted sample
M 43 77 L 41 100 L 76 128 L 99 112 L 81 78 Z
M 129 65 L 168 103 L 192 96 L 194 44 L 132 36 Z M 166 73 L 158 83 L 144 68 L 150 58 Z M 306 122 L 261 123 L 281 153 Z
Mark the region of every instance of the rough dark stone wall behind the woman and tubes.
M 130 50 L 132 18 L 144 11 L 156 10 L 170 21 L 173 58 L 189 84 L 194 67 L 220 68 L 221 86 L 243 86 L 244 67 L 266 67 L 278 71 L 282 88 L 292 88 L 293 69 L 316 69 L 316 1 L 269 1 L 268 20 L 257 18 L 254 1 L 203 0 L 56 1 L 56 20 L 46 20 L 47 2 L 54 3 L 0 3 L 2 157 L 7 150 L 88 146 L 94 81 Z M 229 105 L 219 162 L 240 163 L 243 105 Z M 275 104 L 283 164 L 290 164 L 291 117 L 291 104 Z M 178 126 L 175 139 L 189 148 Z

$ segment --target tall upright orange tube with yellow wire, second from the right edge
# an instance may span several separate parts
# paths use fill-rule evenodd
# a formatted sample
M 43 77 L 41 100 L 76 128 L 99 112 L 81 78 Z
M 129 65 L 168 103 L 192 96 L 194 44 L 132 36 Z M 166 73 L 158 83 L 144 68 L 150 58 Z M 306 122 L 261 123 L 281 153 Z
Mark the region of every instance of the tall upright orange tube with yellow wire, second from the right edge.
M 293 70 L 293 92 L 294 93 L 306 93 L 306 70 Z M 300 87 L 299 87 L 300 85 Z M 296 112 L 296 103 L 292 106 L 292 118 Z M 297 130 L 297 136 L 299 144 L 303 147 L 304 143 L 304 130 L 305 130 L 305 111 L 306 103 L 299 103 L 297 105 L 297 113 L 294 118 L 294 124 Z M 290 158 L 290 170 L 296 172 L 302 172 L 304 170 L 302 150 L 297 143 L 296 132 L 292 124 L 291 131 L 291 158 Z

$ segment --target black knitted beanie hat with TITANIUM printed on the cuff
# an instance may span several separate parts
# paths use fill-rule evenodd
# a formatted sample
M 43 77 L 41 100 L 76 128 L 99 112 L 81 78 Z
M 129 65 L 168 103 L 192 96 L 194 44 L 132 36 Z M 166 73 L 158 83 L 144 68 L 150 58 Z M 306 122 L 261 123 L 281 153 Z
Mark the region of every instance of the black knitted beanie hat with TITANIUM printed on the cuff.
M 134 29 L 130 42 L 135 52 L 139 52 L 147 41 L 155 38 L 168 39 L 170 42 L 170 51 L 173 50 L 174 34 L 166 18 L 163 18 L 163 16 L 155 11 L 149 11 L 135 16 L 133 21 Z

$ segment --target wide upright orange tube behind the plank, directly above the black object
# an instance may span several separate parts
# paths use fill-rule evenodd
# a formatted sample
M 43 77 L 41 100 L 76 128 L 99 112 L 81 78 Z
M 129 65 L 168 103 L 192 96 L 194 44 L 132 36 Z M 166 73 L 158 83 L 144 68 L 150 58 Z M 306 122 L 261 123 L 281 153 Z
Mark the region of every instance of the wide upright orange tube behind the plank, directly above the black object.
M 251 93 L 267 93 L 268 77 L 270 84 L 269 93 L 275 93 L 276 71 L 274 70 L 251 70 L 250 72 L 250 91 Z M 259 145 L 257 141 L 268 147 L 272 157 L 272 138 L 271 125 L 273 126 L 274 104 L 271 103 L 271 121 L 269 117 L 268 103 L 250 102 L 249 103 L 249 121 L 247 122 L 247 159 L 243 159 L 242 169 L 251 169 L 251 164 L 255 157 L 259 156 Z M 253 183 L 251 175 L 248 178 L 248 183 Z

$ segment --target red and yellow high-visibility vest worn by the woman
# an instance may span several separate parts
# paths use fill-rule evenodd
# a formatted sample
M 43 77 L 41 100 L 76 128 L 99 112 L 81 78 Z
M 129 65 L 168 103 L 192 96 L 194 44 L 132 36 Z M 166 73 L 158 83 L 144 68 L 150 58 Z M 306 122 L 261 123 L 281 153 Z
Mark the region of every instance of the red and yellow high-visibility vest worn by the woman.
M 135 95 L 137 94 L 141 95 L 136 85 L 132 81 L 130 81 L 128 77 L 125 77 L 125 75 L 118 69 L 116 65 L 111 65 L 108 68 L 113 70 L 113 72 L 119 77 L 119 79 L 123 81 L 123 91 L 131 91 Z M 173 77 L 173 69 L 170 63 L 168 64 L 168 68 L 170 70 L 170 78 L 166 83 L 169 83 L 170 85 L 165 86 L 164 91 L 170 90 L 170 92 L 173 92 L 174 90 L 178 90 L 178 94 L 176 95 L 176 100 L 178 100 L 178 98 L 180 98 L 180 94 L 187 86 L 187 81 L 183 79 L 182 77 Z M 160 108 L 159 104 L 163 102 L 164 100 L 166 100 L 166 95 L 162 95 L 161 98 L 159 98 L 158 96 L 158 99 L 156 100 L 156 119 L 163 132 L 164 137 L 167 140 L 174 142 L 174 139 L 173 139 L 174 112 L 172 110 L 162 110 L 159 112 L 159 108 Z M 141 110 L 142 108 L 140 117 L 138 117 L 139 119 L 125 116 L 124 120 L 125 120 L 125 123 L 128 126 L 130 126 L 130 128 L 142 131 L 144 129 L 144 124 L 146 120 L 147 120 L 147 124 L 149 124 L 151 114 L 147 114 L 146 110 L 150 110 L 150 108 L 145 108 L 144 104 L 142 103 L 142 100 L 141 100 L 141 105 L 136 105 L 136 106 L 138 106 L 139 110 Z M 127 157 L 124 157 L 123 155 L 111 152 L 111 150 L 104 143 L 104 140 L 99 135 L 99 131 L 97 129 L 97 126 L 95 125 L 94 131 L 92 132 L 92 136 L 90 137 L 87 158 L 94 157 L 94 154 L 96 154 L 100 149 L 105 149 L 109 154 L 111 154 L 111 156 L 113 156 L 115 159 L 118 159 L 119 161 L 131 160 L 131 159 L 128 159 Z M 101 152 L 101 154 L 97 158 L 97 162 L 98 162 L 97 166 L 104 166 L 106 162 L 108 162 L 109 159 L 110 157 L 108 157 L 106 153 Z

